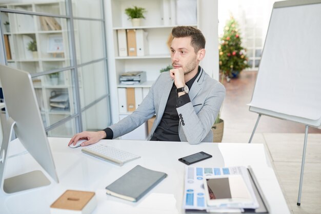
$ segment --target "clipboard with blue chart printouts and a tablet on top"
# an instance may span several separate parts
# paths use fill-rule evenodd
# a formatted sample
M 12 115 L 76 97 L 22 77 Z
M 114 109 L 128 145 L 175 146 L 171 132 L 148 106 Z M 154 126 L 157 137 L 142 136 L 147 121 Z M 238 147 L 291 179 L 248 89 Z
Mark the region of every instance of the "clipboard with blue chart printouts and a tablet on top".
M 186 167 L 186 213 L 269 213 L 251 168 Z

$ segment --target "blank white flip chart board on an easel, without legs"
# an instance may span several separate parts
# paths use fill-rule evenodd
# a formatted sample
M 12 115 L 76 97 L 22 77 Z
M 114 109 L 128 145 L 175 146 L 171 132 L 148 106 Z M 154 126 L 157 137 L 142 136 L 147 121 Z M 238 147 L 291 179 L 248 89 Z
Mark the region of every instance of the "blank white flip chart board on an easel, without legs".
M 307 2 L 274 3 L 249 105 L 252 112 L 318 127 L 321 1 Z

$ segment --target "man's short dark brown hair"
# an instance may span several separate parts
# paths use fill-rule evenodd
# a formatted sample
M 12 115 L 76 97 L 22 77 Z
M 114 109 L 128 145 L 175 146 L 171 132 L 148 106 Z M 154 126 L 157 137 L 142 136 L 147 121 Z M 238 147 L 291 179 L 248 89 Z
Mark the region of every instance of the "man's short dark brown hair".
M 172 30 L 172 35 L 175 38 L 191 37 L 191 46 L 195 53 L 200 49 L 205 48 L 205 37 L 203 33 L 192 26 L 177 26 Z

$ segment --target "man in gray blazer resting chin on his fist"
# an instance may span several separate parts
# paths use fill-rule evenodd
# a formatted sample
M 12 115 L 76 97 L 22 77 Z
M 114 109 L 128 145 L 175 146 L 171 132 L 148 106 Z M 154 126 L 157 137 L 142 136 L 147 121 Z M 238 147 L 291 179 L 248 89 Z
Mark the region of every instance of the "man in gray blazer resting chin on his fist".
M 199 67 L 205 56 L 205 38 L 198 29 L 178 26 L 172 30 L 173 69 L 153 83 L 136 111 L 98 132 L 78 133 L 69 144 L 86 139 L 86 146 L 101 139 L 125 135 L 156 114 L 148 140 L 212 142 L 211 127 L 225 97 L 225 88 Z

